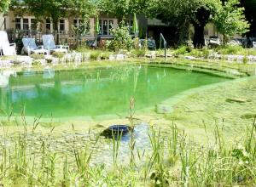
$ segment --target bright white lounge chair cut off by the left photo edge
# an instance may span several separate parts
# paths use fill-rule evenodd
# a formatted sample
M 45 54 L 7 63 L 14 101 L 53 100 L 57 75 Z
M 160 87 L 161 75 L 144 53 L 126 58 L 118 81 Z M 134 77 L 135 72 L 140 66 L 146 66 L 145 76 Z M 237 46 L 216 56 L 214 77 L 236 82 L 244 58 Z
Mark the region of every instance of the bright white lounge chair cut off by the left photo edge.
M 16 54 L 16 44 L 9 43 L 6 31 L 0 31 L 0 55 L 12 56 Z

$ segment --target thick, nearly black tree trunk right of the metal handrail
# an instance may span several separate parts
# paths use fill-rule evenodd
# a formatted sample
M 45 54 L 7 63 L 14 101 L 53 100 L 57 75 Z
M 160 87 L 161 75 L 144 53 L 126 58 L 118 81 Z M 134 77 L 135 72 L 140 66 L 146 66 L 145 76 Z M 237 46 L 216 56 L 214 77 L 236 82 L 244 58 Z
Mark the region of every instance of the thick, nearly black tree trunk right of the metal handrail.
M 194 25 L 195 28 L 195 35 L 193 39 L 194 48 L 203 48 L 205 43 L 205 37 L 204 37 L 204 25 Z

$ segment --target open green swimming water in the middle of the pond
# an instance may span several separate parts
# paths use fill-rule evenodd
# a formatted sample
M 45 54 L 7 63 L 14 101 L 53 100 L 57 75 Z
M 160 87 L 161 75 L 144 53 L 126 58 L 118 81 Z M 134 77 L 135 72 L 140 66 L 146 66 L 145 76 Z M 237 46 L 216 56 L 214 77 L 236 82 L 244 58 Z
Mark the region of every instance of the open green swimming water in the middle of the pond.
M 131 97 L 136 100 L 136 110 L 141 110 L 190 88 L 224 81 L 227 79 L 203 73 L 134 65 L 23 71 L 9 76 L 5 83 L 2 78 L 0 108 L 43 117 L 128 114 Z

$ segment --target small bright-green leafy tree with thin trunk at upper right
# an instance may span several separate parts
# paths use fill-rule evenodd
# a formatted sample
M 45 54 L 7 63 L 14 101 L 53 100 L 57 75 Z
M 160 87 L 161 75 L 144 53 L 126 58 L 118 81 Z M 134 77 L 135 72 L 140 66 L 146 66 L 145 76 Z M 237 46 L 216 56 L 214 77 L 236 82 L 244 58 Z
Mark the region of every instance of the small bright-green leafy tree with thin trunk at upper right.
M 223 35 L 224 45 L 230 36 L 248 31 L 249 24 L 243 14 L 244 8 L 239 5 L 238 0 L 228 0 L 224 4 L 219 4 L 217 14 L 213 17 L 217 30 Z

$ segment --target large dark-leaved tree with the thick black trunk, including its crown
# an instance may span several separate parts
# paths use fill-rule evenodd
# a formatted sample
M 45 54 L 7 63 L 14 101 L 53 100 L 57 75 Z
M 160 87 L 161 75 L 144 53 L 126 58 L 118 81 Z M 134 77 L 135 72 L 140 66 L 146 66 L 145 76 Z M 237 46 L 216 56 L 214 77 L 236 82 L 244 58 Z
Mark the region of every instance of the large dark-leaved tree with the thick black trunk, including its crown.
M 189 25 L 195 28 L 193 38 L 195 48 L 205 45 L 204 27 L 215 14 L 216 2 L 219 0 L 153 0 L 156 17 L 170 26 L 177 27 L 179 42 L 188 38 Z

